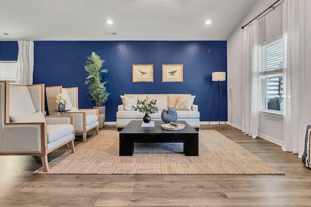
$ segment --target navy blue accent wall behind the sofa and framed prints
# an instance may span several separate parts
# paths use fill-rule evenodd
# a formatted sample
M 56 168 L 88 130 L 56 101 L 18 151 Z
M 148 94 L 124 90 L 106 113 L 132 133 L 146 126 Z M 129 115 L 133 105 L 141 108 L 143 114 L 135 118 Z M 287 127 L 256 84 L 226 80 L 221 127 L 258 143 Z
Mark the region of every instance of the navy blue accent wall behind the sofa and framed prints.
M 108 69 L 104 74 L 110 93 L 104 103 L 105 121 L 116 121 L 120 95 L 171 93 L 195 95 L 200 120 L 209 121 L 218 88 L 211 73 L 227 70 L 226 41 L 35 41 L 34 84 L 78 87 L 79 108 L 91 108 L 94 103 L 88 99 L 84 65 L 92 51 L 105 60 L 104 68 Z M 154 64 L 154 82 L 133 83 L 132 64 Z M 183 64 L 184 81 L 162 83 L 162 64 Z M 221 86 L 227 120 L 226 81 Z M 216 95 L 211 121 L 219 119 L 218 91 Z M 223 117 L 221 109 L 221 120 Z

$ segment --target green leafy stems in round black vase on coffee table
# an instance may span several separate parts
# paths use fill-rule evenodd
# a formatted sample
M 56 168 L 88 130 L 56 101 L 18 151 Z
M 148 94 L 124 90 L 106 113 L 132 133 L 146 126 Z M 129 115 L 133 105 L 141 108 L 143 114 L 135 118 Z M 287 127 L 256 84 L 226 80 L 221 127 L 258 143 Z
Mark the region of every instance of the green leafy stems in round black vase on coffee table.
M 145 123 L 149 123 L 151 121 L 151 117 L 149 116 L 149 113 L 157 113 L 158 108 L 157 106 L 155 106 L 156 104 L 156 100 L 152 99 L 149 103 L 147 103 L 146 99 L 144 99 L 143 101 L 137 100 L 137 105 L 136 106 L 132 106 L 132 109 L 134 109 L 134 111 L 139 111 L 145 114 L 145 116 L 143 117 L 143 121 Z

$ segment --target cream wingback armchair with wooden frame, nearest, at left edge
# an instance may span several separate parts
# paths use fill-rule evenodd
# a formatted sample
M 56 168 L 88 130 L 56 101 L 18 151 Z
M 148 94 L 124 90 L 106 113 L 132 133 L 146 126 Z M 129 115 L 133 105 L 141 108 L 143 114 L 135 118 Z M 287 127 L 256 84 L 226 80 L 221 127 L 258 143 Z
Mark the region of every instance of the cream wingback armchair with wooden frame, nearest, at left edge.
M 0 81 L 0 155 L 38 155 L 49 172 L 48 153 L 69 144 L 74 153 L 72 116 L 45 117 L 44 84 Z

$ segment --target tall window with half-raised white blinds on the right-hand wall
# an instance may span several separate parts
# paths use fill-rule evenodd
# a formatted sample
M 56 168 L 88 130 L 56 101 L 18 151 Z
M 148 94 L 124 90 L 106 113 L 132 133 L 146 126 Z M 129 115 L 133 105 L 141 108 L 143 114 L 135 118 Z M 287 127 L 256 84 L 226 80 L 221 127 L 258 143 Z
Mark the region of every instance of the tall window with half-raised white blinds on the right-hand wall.
M 283 38 L 259 47 L 259 75 L 262 80 L 261 110 L 283 111 Z

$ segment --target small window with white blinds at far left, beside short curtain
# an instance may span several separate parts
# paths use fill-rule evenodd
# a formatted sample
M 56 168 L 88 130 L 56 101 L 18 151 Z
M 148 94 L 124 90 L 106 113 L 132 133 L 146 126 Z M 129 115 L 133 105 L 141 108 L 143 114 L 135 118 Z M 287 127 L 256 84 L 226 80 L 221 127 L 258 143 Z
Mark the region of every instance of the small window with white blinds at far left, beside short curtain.
M 17 61 L 0 61 L 0 80 L 10 80 L 15 83 L 17 73 Z

